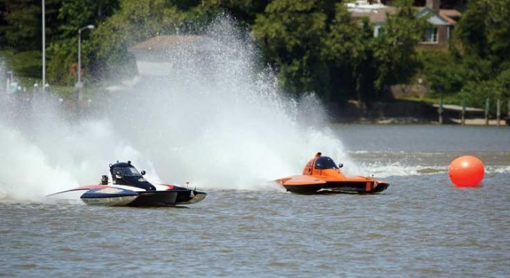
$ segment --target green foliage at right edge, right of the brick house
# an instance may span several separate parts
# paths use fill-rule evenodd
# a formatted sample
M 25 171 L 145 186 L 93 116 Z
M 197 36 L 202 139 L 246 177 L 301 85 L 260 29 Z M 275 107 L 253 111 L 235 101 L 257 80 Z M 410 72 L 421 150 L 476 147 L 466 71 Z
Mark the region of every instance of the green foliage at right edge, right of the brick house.
M 470 1 L 454 29 L 450 51 L 425 51 L 423 74 L 436 95 L 485 106 L 510 97 L 510 0 Z M 492 109 L 493 111 L 495 108 Z

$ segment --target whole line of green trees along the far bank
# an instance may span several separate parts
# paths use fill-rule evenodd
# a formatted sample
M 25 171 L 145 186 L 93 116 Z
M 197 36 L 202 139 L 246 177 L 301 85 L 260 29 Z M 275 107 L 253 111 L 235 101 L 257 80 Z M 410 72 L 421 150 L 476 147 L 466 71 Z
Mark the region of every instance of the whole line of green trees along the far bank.
M 316 92 L 324 101 L 372 101 L 390 85 L 423 79 L 434 97 L 462 97 L 479 105 L 485 97 L 510 96 L 510 0 L 470 0 L 448 48 L 417 47 L 427 28 L 416 17 L 424 1 L 396 0 L 377 37 L 368 19 L 355 19 L 346 1 L 334 0 L 46 0 L 47 76 L 72 85 L 78 28 L 87 82 L 135 74 L 128 49 L 158 34 L 196 33 L 227 13 L 255 37 L 263 60 L 282 88 Z M 441 2 L 457 6 L 461 0 Z M 0 51 L 41 49 L 39 0 L 0 0 Z M 33 77 L 40 75 L 32 70 Z

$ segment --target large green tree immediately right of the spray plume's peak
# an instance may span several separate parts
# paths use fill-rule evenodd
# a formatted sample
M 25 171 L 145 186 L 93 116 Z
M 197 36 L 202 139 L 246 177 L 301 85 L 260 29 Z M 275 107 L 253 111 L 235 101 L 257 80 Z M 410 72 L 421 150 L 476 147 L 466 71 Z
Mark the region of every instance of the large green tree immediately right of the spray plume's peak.
M 328 99 L 330 76 L 322 53 L 327 19 L 314 0 L 275 0 L 257 15 L 253 33 L 287 91 L 314 91 Z

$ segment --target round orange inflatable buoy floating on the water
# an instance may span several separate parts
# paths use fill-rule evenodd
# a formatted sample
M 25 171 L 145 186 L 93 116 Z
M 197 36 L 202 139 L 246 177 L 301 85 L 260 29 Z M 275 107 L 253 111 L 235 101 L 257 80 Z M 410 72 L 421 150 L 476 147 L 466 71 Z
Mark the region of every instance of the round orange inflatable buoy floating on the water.
M 457 187 L 478 186 L 484 179 L 484 172 L 484 163 L 475 156 L 457 157 L 448 168 L 450 180 Z

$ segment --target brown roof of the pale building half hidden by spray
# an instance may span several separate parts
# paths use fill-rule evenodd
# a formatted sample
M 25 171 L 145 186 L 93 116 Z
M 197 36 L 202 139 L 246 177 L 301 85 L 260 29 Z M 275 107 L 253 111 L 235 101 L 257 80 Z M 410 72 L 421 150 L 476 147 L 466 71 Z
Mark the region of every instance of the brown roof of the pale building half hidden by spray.
M 197 42 L 202 37 L 203 35 L 157 35 L 144 42 L 133 45 L 131 50 L 164 50 L 175 47 L 178 44 Z

